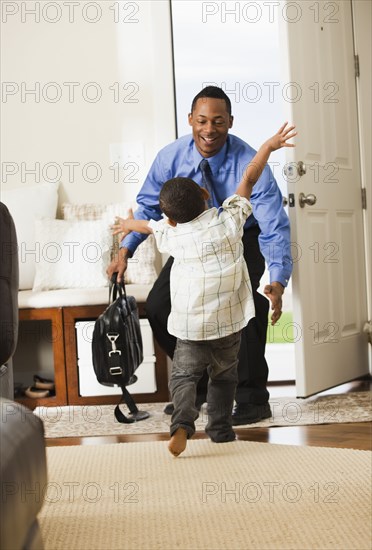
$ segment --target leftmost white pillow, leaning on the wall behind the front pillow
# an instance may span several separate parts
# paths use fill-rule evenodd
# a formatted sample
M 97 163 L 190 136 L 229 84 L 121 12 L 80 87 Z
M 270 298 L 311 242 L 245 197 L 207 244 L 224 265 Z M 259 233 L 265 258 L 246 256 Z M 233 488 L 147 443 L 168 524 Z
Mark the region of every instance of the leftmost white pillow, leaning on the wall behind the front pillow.
M 20 290 L 30 289 L 34 284 L 37 260 L 34 221 L 56 217 L 58 185 L 41 183 L 1 192 L 1 200 L 11 213 L 17 232 Z

